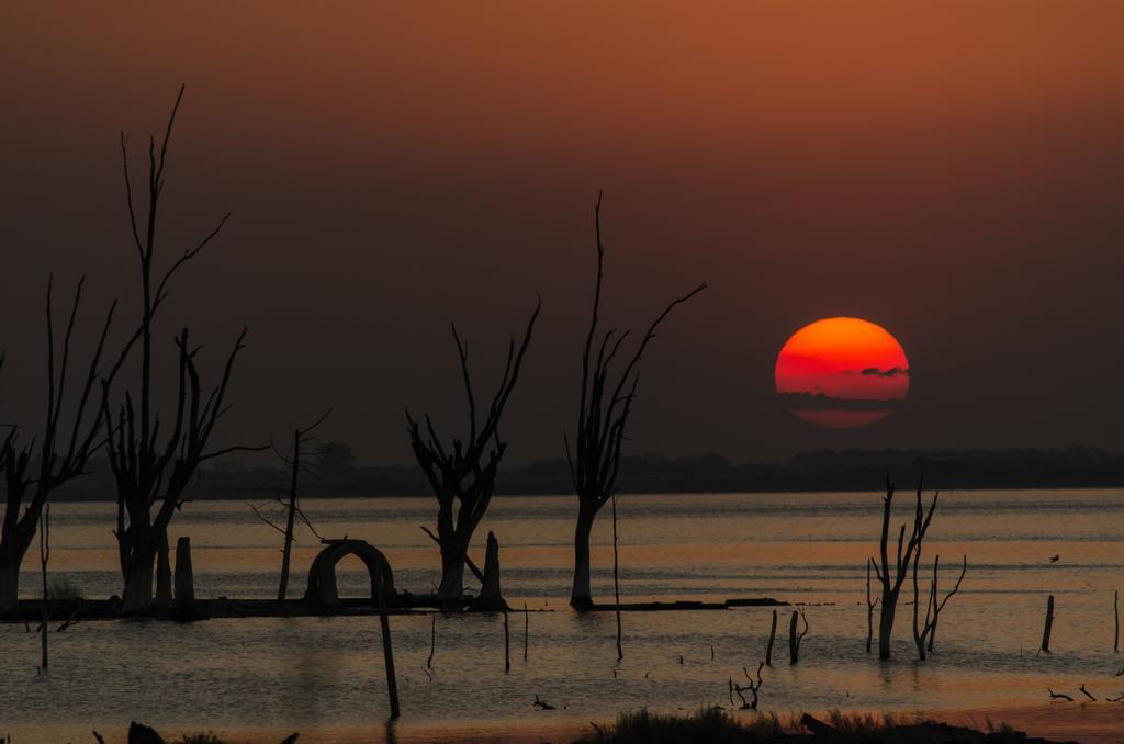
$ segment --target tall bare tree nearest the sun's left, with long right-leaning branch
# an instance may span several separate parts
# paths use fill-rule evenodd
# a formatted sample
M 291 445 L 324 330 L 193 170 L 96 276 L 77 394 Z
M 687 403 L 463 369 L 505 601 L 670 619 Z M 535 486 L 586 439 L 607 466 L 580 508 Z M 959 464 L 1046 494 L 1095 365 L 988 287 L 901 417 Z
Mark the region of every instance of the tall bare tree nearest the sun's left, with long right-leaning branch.
M 593 288 L 593 312 L 586 335 L 586 346 L 581 355 L 581 398 L 578 406 L 578 433 L 573 446 L 569 436 L 564 437 L 570 477 L 578 493 L 578 521 L 574 526 L 573 587 L 570 605 L 578 609 L 589 609 L 592 593 L 589 586 L 589 535 L 593 519 L 601 507 L 608 503 L 616 491 L 617 472 L 620 468 L 620 447 L 625 441 L 625 427 L 636 399 L 640 383 L 638 364 L 649 343 L 655 338 L 655 329 L 679 305 L 691 299 L 704 289 L 699 284 L 687 294 L 672 300 L 652 325 L 640 345 L 633 352 L 624 371 L 616 380 L 610 380 L 613 360 L 620 352 L 628 330 L 605 332 L 598 342 L 597 356 L 592 356 L 593 341 L 598 334 L 601 306 L 601 280 L 605 264 L 605 246 L 601 243 L 601 194 L 593 207 L 593 229 L 597 237 L 597 283 Z

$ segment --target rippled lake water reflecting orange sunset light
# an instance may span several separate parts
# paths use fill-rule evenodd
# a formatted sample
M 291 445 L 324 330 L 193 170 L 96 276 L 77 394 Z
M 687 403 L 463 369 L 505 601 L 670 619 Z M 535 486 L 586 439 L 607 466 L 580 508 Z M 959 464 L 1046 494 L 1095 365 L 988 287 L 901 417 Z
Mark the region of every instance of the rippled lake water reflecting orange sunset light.
M 898 496 L 896 520 L 909 518 L 910 498 Z M 1043 702 L 1048 684 L 1077 695 L 1086 683 L 1100 697 L 1124 689 L 1124 678 L 1114 677 L 1124 659 L 1112 651 L 1113 591 L 1124 588 L 1124 491 L 941 498 L 923 565 L 940 553 L 946 586 L 961 555 L 969 570 L 942 615 L 936 653 L 921 664 L 909 607 L 899 608 L 895 662 L 880 664 L 863 651 L 863 566 L 877 551 L 881 518 L 876 492 L 625 497 L 622 595 L 768 596 L 809 605 L 800 663 L 787 663 L 789 610 L 782 610 L 778 663 L 764 674 L 762 707 L 780 711 L 999 708 Z M 430 499 L 307 499 L 305 506 L 320 533 L 381 547 L 400 589 L 430 591 L 438 581 L 438 553 L 418 527 L 434 521 Z M 553 610 L 529 615 L 526 662 L 524 617 L 511 616 L 509 674 L 501 617 L 438 617 L 432 680 L 424 671 L 430 618 L 391 618 L 400 737 L 586 725 L 642 705 L 728 705 L 727 679 L 764 657 L 771 610 L 626 614 L 625 661 L 617 665 L 613 615 L 578 616 L 566 607 L 574 512 L 572 497 L 496 498 L 478 530 L 473 554 L 481 561 L 487 530 L 500 541 L 508 601 Z M 608 599 L 608 510 L 604 517 L 593 534 L 593 590 Z M 112 521 L 110 503 L 52 509 L 52 570 L 87 597 L 120 591 Z M 190 503 L 173 520 L 173 542 L 179 535 L 191 536 L 197 595 L 275 596 L 280 535 L 246 502 Z M 290 584 L 298 596 L 318 548 L 310 534 L 300 538 Z M 1051 564 L 1054 554 L 1060 560 Z M 339 572 L 342 593 L 369 591 L 356 559 L 343 561 Z M 37 580 L 25 572 L 28 596 Z M 1054 653 L 1036 655 L 1049 593 L 1058 606 Z M 212 728 L 265 741 L 291 731 L 301 732 L 302 742 L 384 737 L 388 706 L 373 618 L 90 621 L 54 634 L 52 652 L 49 673 L 38 674 L 37 637 L 0 625 L 0 735 L 11 732 L 21 744 L 92 741 L 91 726 L 119 733 L 138 719 L 173 732 Z M 559 710 L 532 708 L 535 695 Z

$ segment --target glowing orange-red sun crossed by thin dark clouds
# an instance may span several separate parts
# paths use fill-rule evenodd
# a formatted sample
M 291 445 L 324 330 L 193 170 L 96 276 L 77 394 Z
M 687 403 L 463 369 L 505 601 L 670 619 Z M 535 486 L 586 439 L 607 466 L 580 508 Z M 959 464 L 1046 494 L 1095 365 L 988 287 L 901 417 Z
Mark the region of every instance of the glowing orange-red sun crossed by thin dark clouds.
M 831 428 L 886 418 L 909 390 L 901 344 L 859 318 L 825 318 L 800 328 L 777 356 L 777 393 L 788 409 Z

